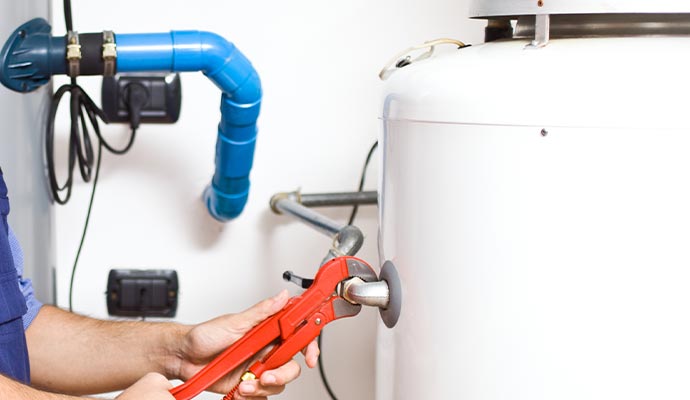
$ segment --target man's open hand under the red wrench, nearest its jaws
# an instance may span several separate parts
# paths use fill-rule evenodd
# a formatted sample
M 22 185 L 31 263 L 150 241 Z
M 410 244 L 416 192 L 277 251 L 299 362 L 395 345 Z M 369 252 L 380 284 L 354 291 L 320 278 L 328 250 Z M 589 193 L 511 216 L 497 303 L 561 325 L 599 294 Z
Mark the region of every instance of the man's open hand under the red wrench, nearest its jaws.
M 288 293 L 284 290 L 277 296 L 266 299 L 247 311 L 218 317 L 192 328 L 184 338 L 179 355 L 181 360 L 178 376 L 180 379 L 191 378 L 251 328 L 285 307 L 288 299 Z M 303 352 L 307 366 L 315 367 L 319 356 L 316 342 L 309 344 Z M 256 358 L 260 357 L 261 354 L 258 354 Z M 211 387 L 211 390 L 223 394 L 232 390 L 240 382 L 240 376 L 252 362 L 254 360 L 250 360 L 237 368 L 232 374 Z M 285 389 L 285 385 L 295 380 L 299 374 L 299 364 L 294 360 L 290 361 L 280 368 L 266 371 L 257 381 L 242 382 L 236 396 L 265 398 L 281 393 Z

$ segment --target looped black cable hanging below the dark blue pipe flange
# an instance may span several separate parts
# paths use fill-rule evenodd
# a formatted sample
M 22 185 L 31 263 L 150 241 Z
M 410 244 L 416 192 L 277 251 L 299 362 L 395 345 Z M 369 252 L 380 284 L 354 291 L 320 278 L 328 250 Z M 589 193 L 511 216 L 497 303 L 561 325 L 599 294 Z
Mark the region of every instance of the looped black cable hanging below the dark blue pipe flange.
M 67 31 L 73 30 L 72 25 L 72 2 L 71 0 L 64 0 L 64 14 L 65 14 L 65 27 Z M 63 184 L 58 183 L 57 174 L 55 172 L 55 116 L 57 114 L 58 106 L 60 105 L 60 100 L 62 97 L 68 93 L 70 94 L 70 134 L 68 142 L 68 154 L 67 154 L 67 179 Z M 127 153 L 134 144 L 134 139 L 136 137 L 136 129 L 139 125 L 139 111 L 146 102 L 146 95 L 139 95 L 137 102 L 131 102 L 128 104 L 130 116 L 136 114 L 136 117 L 132 118 L 131 122 L 131 135 L 127 145 L 122 149 L 116 149 L 111 146 L 101 134 L 101 129 L 98 124 L 98 119 L 104 122 L 108 122 L 107 117 L 103 110 L 100 109 L 91 100 L 88 94 L 77 85 L 76 77 L 70 79 L 70 83 L 60 86 L 58 90 L 53 94 L 50 102 L 50 109 L 48 113 L 48 121 L 46 123 L 46 164 L 48 169 L 48 181 L 50 185 L 50 192 L 53 200 L 58 204 L 66 204 L 72 195 L 72 184 L 74 183 L 74 167 L 79 167 L 79 174 L 81 175 L 84 182 L 90 182 L 94 169 L 94 161 L 96 162 L 96 171 L 93 181 L 93 188 L 91 190 L 91 198 L 89 200 L 89 206 L 86 212 L 86 221 L 84 222 L 84 230 L 82 232 L 81 240 L 79 242 L 79 248 L 77 254 L 74 258 L 74 264 L 72 266 L 72 274 L 70 277 L 69 285 L 69 310 L 72 311 L 72 294 L 74 287 L 74 276 L 77 270 L 77 264 L 79 262 L 79 257 L 81 255 L 82 248 L 84 246 L 84 240 L 86 238 L 86 231 L 89 226 L 89 221 L 91 219 L 91 210 L 93 208 L 93 200 L 96 194 L 96 184 L 98 182 L 98 175 L 101 168 L 101 159 L 103 148 L 113 154 L 125 154 Z M 91 133 L 88 126 L 91 125 L 93 132 L 96 134 L 96 139 L 98 141 L 98 154 L 94 157 L 93 144 L 91 141 Z M 61 197 L 61 193 L 64 192 L 64 197 Z

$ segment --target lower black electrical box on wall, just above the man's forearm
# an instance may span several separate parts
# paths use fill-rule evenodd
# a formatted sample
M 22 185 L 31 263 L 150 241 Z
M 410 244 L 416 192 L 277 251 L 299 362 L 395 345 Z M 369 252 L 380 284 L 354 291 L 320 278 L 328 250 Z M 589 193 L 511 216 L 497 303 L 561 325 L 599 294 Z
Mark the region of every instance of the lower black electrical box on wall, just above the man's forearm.
M 177 272 L 159 269 L 113 269 L 108 274 L 108 314 L 121 317 L 174 317 Z

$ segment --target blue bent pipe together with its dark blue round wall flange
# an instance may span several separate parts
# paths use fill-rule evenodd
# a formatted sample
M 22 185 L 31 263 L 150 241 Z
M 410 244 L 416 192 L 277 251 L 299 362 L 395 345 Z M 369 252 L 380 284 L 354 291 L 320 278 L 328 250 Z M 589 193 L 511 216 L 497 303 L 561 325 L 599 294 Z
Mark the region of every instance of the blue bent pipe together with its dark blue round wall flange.
M 216 170 L 203 199 L 219 221 L 240 215 L 249 196 L 262 96 L 259 75 L 249 60 L 210 32 L 117 34 L 115 43 L 118 72 L 202 71 L 221 89 Z M 0 52 L 0 82 L 28 92 L 53 75 L 67 73 L 65 45 L 64 36 L 50 35 L 47 21 L 37 18 L 23 24 Z

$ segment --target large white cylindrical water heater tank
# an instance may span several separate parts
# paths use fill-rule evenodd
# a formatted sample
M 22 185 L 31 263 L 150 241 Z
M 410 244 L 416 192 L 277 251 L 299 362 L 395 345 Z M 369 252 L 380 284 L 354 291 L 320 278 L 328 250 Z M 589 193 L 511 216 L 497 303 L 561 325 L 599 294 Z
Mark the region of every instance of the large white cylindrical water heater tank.
M 377 399 L 689 399 L 690 5 L 473 9 L 386 82 Z

